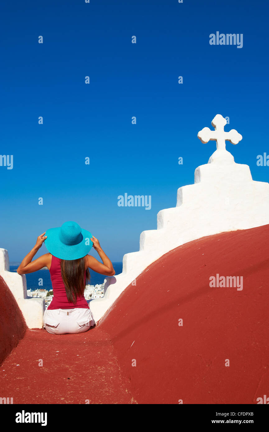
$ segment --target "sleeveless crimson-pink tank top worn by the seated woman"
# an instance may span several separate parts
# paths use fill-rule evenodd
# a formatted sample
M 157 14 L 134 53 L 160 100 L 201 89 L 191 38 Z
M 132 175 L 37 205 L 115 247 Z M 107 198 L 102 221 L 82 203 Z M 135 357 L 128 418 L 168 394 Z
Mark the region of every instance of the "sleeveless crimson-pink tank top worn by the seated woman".
M 86 299 L 83 296 L 77 296 L 77 303 L 74 305 L 68 302 L 67 295 L 64 287 L 64 281 L 61 276 L 61 260 L 52 255 L 51 268 L 49 269 L 51 275 L 51 283 L 53 289 L 53 299 L 48 309 L 74 309 L 83 308 L 90 309 Z M 84 273 L 84 281 L 86 280 L 86 270 Z

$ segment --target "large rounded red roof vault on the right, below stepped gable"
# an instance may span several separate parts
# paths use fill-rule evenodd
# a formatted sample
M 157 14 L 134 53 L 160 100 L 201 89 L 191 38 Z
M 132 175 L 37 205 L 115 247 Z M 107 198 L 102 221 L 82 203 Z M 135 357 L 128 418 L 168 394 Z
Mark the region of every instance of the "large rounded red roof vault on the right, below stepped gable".
M 257 403 L 268 393 L 268 257 L 269 225 L 225 232 L 170 251 L 125 289 L 100 328 L 138 403 Z M 243 289 L 211 288 L 217 273 L 243 276 Z

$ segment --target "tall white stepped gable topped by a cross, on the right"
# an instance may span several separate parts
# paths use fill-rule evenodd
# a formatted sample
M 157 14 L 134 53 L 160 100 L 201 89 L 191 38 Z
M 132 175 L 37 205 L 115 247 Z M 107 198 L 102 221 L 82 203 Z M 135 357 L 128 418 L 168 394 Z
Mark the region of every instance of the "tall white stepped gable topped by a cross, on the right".
M 96 321 L 163 254 L 207 235 L 269 224 L 269 183 L 253 181 L 249 166 L 234 162 L 225 140 L 237 144 L 242 136 L 234 129 L 224 132 L 226 123 L 217 114 L 215 130 L 204 127 L 198 133 L 202 143 L 215 140 L 217 150 L 195 169 L 195 183 L 178 189 L 176 207 L 157 214 L 157 230 L 141 233 L 140 250 L 124 255 L 122 273 L 106 278 L 104 297 L 90 302 Z

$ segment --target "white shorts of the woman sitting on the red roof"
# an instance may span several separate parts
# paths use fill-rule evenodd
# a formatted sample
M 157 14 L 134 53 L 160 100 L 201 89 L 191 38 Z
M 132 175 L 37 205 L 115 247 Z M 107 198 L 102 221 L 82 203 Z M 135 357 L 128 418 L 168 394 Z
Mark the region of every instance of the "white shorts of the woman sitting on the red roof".
M 46 309 L 43 324 L 48 333 L 66 334 L 83 333 L 95 326 L 90 309 Z

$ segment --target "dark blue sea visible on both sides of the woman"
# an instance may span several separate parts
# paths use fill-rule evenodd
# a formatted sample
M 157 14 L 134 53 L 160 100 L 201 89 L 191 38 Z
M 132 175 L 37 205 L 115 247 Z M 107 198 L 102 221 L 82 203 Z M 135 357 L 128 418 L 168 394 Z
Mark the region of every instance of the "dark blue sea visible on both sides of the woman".
M 115 275 L 122 273 L 122 262 L 115 262 L 112 263 Z M 16 272 L 18 265 L 10 265 L 10 271 Z M 88 282 L 89 285 L 96 285 L 101 284 L 104 282 L 104 279 L 106 276 L 96 273 L 95 271 L 89 269 L 90 271 L 90 282 Z M 32 291 L 35 291 L 35 289 L 47 289 L 48 291 L 52 290 L 51 285 L 51 277 L 50 273 L 47 269 L 44 270 L 38 270 L 33 273 L 28 273 L 26 276 L 26 282 L 27 282 L 27 289 L 31 289 Z M 42 285 L 41 285 L 42 284 Z

